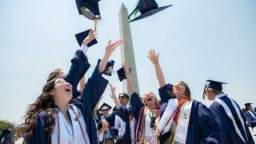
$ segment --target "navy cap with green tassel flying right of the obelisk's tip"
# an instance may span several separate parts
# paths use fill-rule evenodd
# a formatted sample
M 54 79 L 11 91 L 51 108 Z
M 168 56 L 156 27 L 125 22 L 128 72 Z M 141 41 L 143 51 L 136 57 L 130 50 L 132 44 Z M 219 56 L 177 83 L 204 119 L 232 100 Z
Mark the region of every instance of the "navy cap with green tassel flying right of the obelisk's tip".
M 138 10 L 141 15 L 139 15 L 137 18 L 132 19 L 130 22 L 134 22 L 139 19 L 149 17 L 150 15 L 153 15 L 158 13 L 159 11 L 165 10 L 170 6 L 172 5 L 158 7 L 158 3 L 155 2 L 155 0 L 139 0 Z

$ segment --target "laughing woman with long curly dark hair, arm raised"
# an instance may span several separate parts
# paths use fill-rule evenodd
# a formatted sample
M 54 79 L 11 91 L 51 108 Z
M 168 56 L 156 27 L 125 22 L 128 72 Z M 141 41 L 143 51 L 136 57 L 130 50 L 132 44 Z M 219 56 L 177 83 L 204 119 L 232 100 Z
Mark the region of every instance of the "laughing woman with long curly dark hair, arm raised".
M 108 43 L 102 61 L 95 67 L 80 97 L 72 99 L 72 86 L 61 78 L 46 83 L 36 102 L 28 106 L 18 133 L 26 134 L 25 143 L 98 143 L 92 112 L 108 83 L 102 78 L 102 72 L 122 42 Z M 77 77 L 78 74 L 74 77 L 75 83 L 79 81 Z

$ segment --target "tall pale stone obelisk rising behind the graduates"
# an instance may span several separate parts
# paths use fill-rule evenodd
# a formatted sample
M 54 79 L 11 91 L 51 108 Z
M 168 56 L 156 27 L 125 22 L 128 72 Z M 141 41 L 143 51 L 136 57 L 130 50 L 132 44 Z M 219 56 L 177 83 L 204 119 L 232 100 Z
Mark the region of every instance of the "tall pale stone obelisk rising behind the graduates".
M 136 92 L 139 94 L 138 89 L 138 77 L 137 70 L 134 58 L 134 47 L 133 41 L 130 33 L 130 23 L 128 21 L 128 10 L 126 6 L 122 3 L 121 10 L 119 11 L 119 31 L 120 38 L 125 39 L 121 45 L 121 62 L 126 62 L 128 66 L 131 68 L 130 78 L 131 82 L 133 82 Z M 122 91 L 130 95 L 130 90 L 127 87 L 127 82 L 122 82 Z

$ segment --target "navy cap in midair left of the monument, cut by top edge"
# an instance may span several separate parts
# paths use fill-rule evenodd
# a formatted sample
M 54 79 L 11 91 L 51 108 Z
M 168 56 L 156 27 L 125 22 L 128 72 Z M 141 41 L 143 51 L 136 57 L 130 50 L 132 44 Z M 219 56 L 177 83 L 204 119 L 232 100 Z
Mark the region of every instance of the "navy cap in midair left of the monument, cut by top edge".
M 77 3 L 79 14 L 83 14 L 90 20 L 94 20 L 97 16 L 100 18 L 98 9 L 99 0 L 76 0 L 75 2 Z

